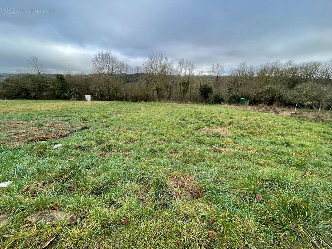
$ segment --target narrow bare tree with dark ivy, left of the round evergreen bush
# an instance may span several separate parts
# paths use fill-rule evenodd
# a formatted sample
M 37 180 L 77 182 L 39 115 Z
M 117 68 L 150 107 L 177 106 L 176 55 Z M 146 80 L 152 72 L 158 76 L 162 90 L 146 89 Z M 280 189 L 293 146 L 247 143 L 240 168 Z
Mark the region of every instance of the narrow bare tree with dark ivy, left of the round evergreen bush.
M 180 93 L 182 96 L 182 101 L 188 92 L 190 82 L 192 81 L 192 76 L 195 71 L 194 62 L 189 59 L 179 58 L 178 65 L 176 67 L 176 73 L 178 76 L 178 83 L 180 86 Z

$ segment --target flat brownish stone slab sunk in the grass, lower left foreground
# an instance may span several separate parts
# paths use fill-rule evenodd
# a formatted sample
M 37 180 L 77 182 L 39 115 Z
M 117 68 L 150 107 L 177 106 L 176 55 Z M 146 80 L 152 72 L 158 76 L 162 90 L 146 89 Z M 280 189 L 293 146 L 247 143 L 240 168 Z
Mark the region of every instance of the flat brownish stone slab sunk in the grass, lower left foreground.
M 67 212 L 60 210 L 43 210 L 32 213 L 26 218 L 27 221 L 37 223 L 56 223 L 58 221 L 66 220 L 71 215 Z

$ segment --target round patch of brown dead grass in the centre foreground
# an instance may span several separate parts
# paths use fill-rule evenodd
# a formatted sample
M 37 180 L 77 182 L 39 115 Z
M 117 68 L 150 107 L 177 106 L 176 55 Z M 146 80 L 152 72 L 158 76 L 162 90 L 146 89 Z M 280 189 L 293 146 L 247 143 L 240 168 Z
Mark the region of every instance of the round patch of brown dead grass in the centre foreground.
M 167 184 L 173 190 L 176 198 L 178 199 L 182 199 L 188 195 L 196 199 L 201 196 L 200 186 L 190 175 L 172 174 L 167 180 Z

